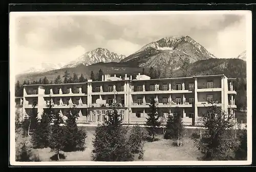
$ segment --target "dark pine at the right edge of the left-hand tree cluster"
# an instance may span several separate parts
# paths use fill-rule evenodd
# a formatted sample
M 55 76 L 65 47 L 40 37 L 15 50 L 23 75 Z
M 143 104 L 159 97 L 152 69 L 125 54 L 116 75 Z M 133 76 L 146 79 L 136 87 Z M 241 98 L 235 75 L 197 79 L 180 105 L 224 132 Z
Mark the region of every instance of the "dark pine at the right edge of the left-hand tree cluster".
M 65 127 L 66 140 L 63 143 L 63 151 L 72 152 L 76 150 L 84 150 L 87 134 L 82 129 L 78 129 L 76 123 L 78 110 L 73 107 L 67 117 L 68 119 L 66 120 Z

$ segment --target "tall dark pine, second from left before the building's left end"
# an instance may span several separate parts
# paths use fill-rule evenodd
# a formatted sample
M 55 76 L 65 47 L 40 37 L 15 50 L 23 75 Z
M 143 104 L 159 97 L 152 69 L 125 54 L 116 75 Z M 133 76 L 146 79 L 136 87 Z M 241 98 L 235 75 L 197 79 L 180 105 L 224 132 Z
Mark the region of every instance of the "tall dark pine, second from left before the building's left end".
M 34 148 L 45 148 L 50 145 L 51 126 L 50 123 L 53 120 L 53 103 L 47 102 L 47 108 L 42 112 L 41 119 L 38 125 L 35 126 L 34 133 L 32 135 L 32 144 Z

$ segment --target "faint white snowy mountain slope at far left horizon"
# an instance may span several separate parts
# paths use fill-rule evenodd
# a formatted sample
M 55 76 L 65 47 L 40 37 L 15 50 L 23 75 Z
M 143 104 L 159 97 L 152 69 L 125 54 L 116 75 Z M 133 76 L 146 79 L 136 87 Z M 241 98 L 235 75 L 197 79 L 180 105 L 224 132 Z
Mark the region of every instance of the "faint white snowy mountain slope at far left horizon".
M 47 72 L 47 71 L 52 71 L 52 70 L 57 70 L 60 69 L 63 66 L 63 63 L 58 63 L 57 65 L 53 63 L 41 63 L 38 66 L 32 67 L 28 70 L 23 71 L 22 73 L 41 73 L 41 72 Z

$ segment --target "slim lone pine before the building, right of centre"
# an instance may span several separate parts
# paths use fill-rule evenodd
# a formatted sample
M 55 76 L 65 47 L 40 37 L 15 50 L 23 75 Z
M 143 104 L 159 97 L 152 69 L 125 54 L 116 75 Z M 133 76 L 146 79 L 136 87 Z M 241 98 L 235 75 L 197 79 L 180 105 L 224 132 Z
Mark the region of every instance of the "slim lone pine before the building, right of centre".
M 148 118 L 146 118 L 146 126 L 148 133 L 152 136 L 152 141 L 155 141 L 157 127 L 161 124 L 159 122 L 160 114 L 158 112 L 155 99 L 151 99 L 150 109 L 151 113 L 147 114 Z

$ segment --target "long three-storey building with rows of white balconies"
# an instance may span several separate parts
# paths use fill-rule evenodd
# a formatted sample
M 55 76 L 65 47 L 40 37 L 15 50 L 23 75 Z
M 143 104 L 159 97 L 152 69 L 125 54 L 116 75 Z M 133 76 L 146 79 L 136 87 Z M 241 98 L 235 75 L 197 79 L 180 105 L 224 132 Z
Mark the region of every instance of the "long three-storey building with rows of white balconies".
M 140 74 L 136 78 L 106 74 L 101 81 L 25 85 L 23 112 L 28 114 L 34 104 L 40 116 L 47 108 L 46 101 L 52 99 L 53 109 L 63 116 L 75 105 L 79 109 L 79 122 L 102 122 L 116 101 L 120 103 L 123 123 L 144 123 L 150 113 L 150 100 L 154 98 L 164 116 L 174 113 L 178 107 L 183 122 L 196 125 L 206 106 L 211 105 L 208 100 L 234 114 L 237 92 L 233 80 L 225 75 L 151 79 Z

